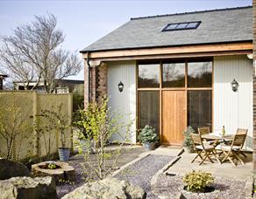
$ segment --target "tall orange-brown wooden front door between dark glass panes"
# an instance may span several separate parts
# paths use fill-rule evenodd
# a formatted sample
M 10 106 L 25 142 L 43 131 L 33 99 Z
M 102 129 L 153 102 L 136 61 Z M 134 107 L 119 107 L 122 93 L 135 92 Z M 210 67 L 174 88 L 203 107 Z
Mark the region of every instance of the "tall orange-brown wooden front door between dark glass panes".
M 186 106 L 185 91 L 162 91 L 162 143 L 181 144 L 183 141 Z

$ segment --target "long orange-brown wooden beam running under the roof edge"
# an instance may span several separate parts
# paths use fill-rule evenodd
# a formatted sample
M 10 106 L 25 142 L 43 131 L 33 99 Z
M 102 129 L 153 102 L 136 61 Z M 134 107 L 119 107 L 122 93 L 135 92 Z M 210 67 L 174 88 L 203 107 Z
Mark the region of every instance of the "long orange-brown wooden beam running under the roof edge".
M 228 51 L 251 51 L 252 42 L 245 43 L 227 43 L 215 45 L 184 45 L 174 47 L 157 47 L 146 49 L 131 49 L 131 50 L 116 50 L 116 51 L 92 51 L 89 53 L 89 58 L 101 59 L 103 58 L 138 58 L 148 56 L 171 56 L 177 54 L 187 53 L 217 53 Z M 83 57 L 87 58 L 87 53 L 83 53 Z

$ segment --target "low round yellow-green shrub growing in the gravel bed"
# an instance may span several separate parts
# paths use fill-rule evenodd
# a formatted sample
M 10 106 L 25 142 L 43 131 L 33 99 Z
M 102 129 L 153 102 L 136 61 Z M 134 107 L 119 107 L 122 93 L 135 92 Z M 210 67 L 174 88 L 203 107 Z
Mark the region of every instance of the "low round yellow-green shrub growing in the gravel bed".
M 210 173 L 193 170 L 184 175 L 182 181 L 188 191 L 205 192 L 210 184 L 214 182 L 214 177 Z

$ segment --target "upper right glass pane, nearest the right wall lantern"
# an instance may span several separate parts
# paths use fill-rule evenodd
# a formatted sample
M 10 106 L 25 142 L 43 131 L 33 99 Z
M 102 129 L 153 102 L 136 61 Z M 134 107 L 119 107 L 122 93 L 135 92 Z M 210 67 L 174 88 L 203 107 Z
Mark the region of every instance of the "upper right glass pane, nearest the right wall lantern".
M 188 63 L 188 87 L 211 87 L 212 63 Z

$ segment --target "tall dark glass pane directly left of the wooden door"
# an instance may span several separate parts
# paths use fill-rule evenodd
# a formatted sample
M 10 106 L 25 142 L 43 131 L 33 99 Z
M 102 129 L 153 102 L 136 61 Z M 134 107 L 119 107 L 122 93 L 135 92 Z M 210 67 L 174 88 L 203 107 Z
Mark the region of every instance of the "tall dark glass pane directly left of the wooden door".
M 159 91 L 139 91 L 139 128 L 146 125 L 159 134 Z

